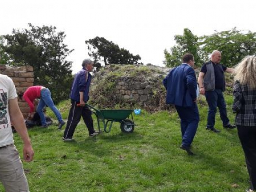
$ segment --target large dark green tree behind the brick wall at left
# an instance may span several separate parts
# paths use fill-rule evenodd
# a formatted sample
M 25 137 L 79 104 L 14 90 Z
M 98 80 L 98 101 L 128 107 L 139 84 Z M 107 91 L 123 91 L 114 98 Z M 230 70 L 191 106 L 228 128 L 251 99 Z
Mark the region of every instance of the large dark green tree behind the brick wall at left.
M 66 57 L 73 51 L 63 43 L 66 37 L 56 27 L 35 27 L 13 29 L 12 35 L 3 36 L 7 44 L 3 46 L 12 59 L 12 65 L 30 65 L 34 68 L 35 85 L 48 87 L 55 102 L 67 99 L 72 83 L 72 62 Z

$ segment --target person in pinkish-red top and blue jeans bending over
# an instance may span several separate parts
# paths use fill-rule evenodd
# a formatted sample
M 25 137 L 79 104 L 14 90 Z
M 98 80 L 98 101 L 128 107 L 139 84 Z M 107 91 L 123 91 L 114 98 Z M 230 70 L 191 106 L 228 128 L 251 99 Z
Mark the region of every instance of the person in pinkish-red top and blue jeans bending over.
M 45 116 L 43 109 L 47 105 L 49 108 L 52 109 L 53 113 L 57 117 L 59 124 L 58 124 L 58 129 L 60 130 L 62 126 L 65 124 L 65 122 L 62 119 L 62 116 L 60 114 L 60 111 L 56 108 L 54 105 L 52 98 L 51 98 L 51 92 L 48 88 L 44 86 L 31 86 L 29 87 L 24 93 L 20 93 L 20 99 L 25 100 L 29 107 L 30 107 L 30 113 L 28 117 L 31 117 L 34 112 L 35 112 L 35 107 L 34 107 L 34 100 L 35 99 L 40 99 L 36 111 L 38 112 L 42 127 L 47 127 Z

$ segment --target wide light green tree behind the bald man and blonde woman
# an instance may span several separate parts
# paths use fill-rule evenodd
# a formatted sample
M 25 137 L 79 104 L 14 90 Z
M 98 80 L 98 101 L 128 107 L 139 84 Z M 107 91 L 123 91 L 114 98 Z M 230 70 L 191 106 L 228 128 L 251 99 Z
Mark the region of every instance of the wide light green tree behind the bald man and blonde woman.
M 233 67 L 245 56 L 256 53 L 256 33 L 243 32 L 233 28 L 218 32 L 210 36 L 200 37 L 202 59 L 209 60 L 208 56 L 213 50 L 221 52 L 221 63 Z

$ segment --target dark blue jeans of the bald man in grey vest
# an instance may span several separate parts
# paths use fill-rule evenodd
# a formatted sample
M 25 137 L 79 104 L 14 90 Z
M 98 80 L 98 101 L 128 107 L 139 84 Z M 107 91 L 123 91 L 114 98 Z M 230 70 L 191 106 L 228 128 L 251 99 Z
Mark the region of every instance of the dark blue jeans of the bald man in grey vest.
M 217 107 L 219 108 L 220 111 L 220 118 L 222 120 L 222 124 L 224 126 L 228 125 L 229 119 L 227 116 L 226 102 L 224 100 L 222 90 L 215 89 L 214 91 L 206 91 L 205 97 L 209 107 L 206 127 L 214 127 Z

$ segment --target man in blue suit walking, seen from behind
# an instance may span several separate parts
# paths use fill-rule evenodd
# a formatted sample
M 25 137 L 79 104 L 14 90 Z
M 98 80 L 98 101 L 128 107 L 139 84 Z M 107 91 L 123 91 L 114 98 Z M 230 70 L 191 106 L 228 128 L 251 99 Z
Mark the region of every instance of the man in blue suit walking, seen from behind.
M 182 57 L 182 64 L 173 68 L 163 80 L 167 90 L 166 104 L 174 105 L 180 117 L 180 148 L 186 150 L 188 155 L 194 155 L 190 147 L 199 123 L 194 64 L 194 56 L 186 53 Z

